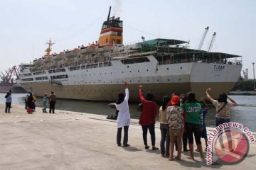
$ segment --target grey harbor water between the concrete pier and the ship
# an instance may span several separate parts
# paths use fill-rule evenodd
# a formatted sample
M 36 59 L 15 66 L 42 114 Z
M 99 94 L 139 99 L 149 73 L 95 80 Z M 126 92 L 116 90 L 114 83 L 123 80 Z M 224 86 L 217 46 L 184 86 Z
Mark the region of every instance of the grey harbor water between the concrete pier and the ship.
M 5 102 L 6 94 L 0 94 L 0 102 Z M 26 94 L 12 94 L 14 104 L 24 104 L 24 96 Z M 230 96 L 237 103 L 230 111 L 231 121 L 242 123 L 251 131 L 256 132 L 256 96 Z M 113 101 L 114 102 L 114 101 Z M 68 101 L 58 100 L 55 108 L 63 111 L 77 111 L 82 113 L 94 113 L 100 115 L 110 115 L 115 113 L 114 109 L 107 106 L 107 102 L 95 101 Z M 42 98 L 37 98 L 36 106 L 42 107 Z M 137 104 L 129 104 L 129 111 L 131 117 L 134 119 L 139 118 L 139 111 L 137 111 Z M 1 108 L 1 113 L 4 113 L 4 108 Z M 41 112 L 41 109 L 36 109 L 36 112 Z M 24 109 L 24 113 L 26 113 Z M 206 115 L 206 126 L 215 127 L 215 108 L 209 107 Z

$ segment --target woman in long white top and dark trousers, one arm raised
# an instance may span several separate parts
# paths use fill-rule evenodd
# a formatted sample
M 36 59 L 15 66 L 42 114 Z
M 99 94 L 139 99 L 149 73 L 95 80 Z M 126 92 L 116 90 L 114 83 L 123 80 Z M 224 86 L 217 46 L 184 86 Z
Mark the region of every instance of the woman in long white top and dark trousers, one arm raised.
M 124 140 L 123 140 L 123 146 L 129 147 L 130 145 L 128 142 L 128 129 L 131 122 L 131 117 L 129 114 L 129 106 L 128 106 L 128 100 L 129 100 L 129 90 L 128 90 L 128 84 L 126 81 L 124 81 L 125 86 L 125 96 L 124 94 L 118 94 L 118 99 L 116 102 L 116 108 L 119 111 L 117 116 L 117 146 L 121 147 L 121 137 L 122 137 L 122 128 L 124 127 Z

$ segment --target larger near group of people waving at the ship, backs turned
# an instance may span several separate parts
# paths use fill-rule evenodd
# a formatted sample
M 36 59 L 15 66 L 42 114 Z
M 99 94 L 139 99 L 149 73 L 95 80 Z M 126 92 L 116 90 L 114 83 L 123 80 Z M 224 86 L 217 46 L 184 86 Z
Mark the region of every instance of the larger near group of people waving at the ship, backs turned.
M 130 125 L 129 114 L 129 89 L 127 82 L 124 82 L 125 94 L 120 93 L 115 103 L 117 115 L 117 146 L 129 147 L 128 144 L 128 129 Z M 227 96 L 227 94 L 220 94 L 218 100 L 210 96 L 211 89 L 206 89 L 206 97 L 208 101 L 213 103 L 216 108 L 215 125 L 230 122 L 230 108 L 236 105 L 236 102 Z M 207 147 L 207 130 L 205 124 L 206 113 L 208 112 L 208 105 L 205 98 L 201 101 L 196 100 L 196 94 L 192 91 L 188 94 L 181 94 L 177 96 L 172 94 L 164 96 L 161 107 L 158 109 L 154 102 L 154 94 L 147 92 L 146 98 L 143 95 L 142 85 L 139 86 L 139 98 L 142 104 L 142 111 L 139 117 L 139 125 L 142 125 L 142 137 L 145 149 L 149 149 L 147 142 L 147 132 L 149 131 L 151 137 L 151 149 L 159 149 L 156 147 L 155 123 L 156 115 L 159 114 L 160 130 L 161 130 L 161 157 L 167 157 L 170 161 L 176 159 L 181 160 L 181 152 L 190 153 L 188 159 L 194 158 L 193 142 L 196 141 L 196 152 L 200 153 L 203 160 L 203 147 L 201 138 L 206 142 Z M 230 103 L 227 100 L 230 100 Z M 124 128 L 124 139 L 122 138 L 122 128 Z M 188 145 L 188 148 L 187 148 Z M 232 150 L 232 145 L 229 145 Z M 174 148 L 176 148 L 177 155 L 174 157 Z M 205 149 L 206 150 L 206 149 Z

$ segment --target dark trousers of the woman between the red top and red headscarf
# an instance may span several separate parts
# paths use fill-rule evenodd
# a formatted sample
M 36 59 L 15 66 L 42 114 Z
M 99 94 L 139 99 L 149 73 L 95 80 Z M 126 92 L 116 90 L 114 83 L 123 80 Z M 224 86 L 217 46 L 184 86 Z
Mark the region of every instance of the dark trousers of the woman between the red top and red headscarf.
M 161 130 L 161 154 L 169 157 L 170 155 L 170 132 L 169 132 L 169 125 L 160 123 L 160 130 Z

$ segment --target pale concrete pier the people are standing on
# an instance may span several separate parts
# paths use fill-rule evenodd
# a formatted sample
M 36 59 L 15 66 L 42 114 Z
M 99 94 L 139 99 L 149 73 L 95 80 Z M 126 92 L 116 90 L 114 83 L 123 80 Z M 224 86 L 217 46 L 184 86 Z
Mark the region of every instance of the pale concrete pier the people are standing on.
M 160 150 L 144 149 L 138 120 L 129 126 L 131 147 L 117 147 L 115 120 L 105 115 L 55 111 L 42 113 L 36 108 L 27 114 L 24 106 L 12 105 L 4 113 L 0 103 L 0 169 L 254 169 L 256 143 L 240 164 L 206 165 L 195 152 L 196 162 L 182 152 L 181 161 L 161 157 Z M 210 131 L 210 128 L 208 128 Z M 156 146 L 161 133 L 156 123 Z M 149 145 L 150 136 L 148 135 Z M 205 148 L 202 140 L 203 149 Z M 206 154 L 206 152 L 204 152 Z M 174 153 L 176 155 L 176 152 Z

